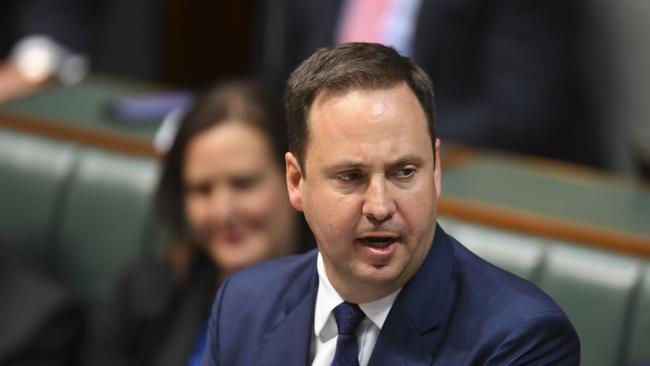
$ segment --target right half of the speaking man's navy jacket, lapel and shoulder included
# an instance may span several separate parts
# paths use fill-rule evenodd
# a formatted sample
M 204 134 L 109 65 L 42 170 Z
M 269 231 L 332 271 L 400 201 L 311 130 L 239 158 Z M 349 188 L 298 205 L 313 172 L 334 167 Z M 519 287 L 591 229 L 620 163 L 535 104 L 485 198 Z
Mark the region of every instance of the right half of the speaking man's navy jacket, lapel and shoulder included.
M 580 355 L 573 326 L 550 297 L 441 228 L 391 309 L 371 362 L 407 343 L 418 346 L 402 353 L 404 364 L 578 365 Z

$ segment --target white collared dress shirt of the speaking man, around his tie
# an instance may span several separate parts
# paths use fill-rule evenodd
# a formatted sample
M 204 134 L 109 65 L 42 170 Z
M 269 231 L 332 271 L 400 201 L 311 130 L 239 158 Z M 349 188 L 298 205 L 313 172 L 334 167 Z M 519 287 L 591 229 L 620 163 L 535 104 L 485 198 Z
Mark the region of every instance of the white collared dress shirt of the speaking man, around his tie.
M 327 278 L 323 257 L 320 253 L 318 253 L 316 267 L 318 269 L 318 293 L 314 309 L 314 333 L 311 337 L 310 360 L 312 366 L 330 366 L 336 353 L 338 337 L 338 328 L 332 310 L 345 300 L 341 298 Z M 359 308 L 366 315 L 357 328 L 360 366 L 368 365 L 379 332 L 400 290 L 377 301 L 359 304 Z

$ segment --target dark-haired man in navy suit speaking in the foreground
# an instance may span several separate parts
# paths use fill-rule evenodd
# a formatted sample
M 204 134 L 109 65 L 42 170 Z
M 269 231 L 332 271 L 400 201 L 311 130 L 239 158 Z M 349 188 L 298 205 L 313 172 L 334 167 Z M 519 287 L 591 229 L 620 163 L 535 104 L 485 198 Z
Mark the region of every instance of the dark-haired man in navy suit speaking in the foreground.
M 431 81 L 379 44 L 321 49 L 285 93 L 289 197 L 317 252 L 233 275 L 208 365 L 578 365 L 562 310 L 436 224 Z

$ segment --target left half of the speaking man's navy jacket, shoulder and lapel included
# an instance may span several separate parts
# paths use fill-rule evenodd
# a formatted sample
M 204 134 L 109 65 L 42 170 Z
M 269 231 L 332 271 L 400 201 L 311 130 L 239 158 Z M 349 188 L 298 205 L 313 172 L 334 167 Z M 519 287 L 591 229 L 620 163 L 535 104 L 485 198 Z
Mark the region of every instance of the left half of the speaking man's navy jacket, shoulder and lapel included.
M 201 364 L 306 364 L 317 288 L 316 250 L 232 275 L 217 294 Z

